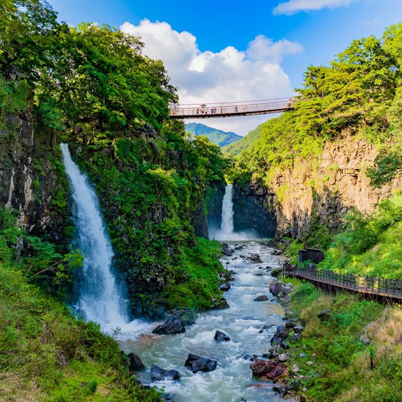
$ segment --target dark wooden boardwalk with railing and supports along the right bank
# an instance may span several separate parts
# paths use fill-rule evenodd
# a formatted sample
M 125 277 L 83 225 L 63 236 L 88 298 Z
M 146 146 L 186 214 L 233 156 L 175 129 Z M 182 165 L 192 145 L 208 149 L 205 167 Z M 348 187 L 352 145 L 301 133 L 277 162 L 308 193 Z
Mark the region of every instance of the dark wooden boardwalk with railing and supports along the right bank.
M 322 289 L 336 293 L 344 290 L 359 293 L 362 297 L 382 304 L 402 303 L 402 280 L 385 279 L 354 274 L 338 274 L 315 267 L 292 267 L 283 270 L 285 276 L 309 280 Z

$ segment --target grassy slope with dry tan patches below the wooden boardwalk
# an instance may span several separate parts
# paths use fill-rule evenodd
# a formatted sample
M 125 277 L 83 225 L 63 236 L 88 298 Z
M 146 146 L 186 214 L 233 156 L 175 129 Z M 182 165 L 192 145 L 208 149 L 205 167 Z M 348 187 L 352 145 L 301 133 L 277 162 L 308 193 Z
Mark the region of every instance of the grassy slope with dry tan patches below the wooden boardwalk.
M 289 349 L 290 366 L 296 363 L 298 374 L 306 377 L 299 389 L 306 386 L 306 395 L 316 402 L 402 400 L 401 309 L 345 293 L 324 294 L 310 283 L 291 281 L 296 288 L 290 308 L 305 326 L 302 338 Z M 327 309 L 331 319 L 321 322 L 317 314 Z M 360 341 L 362 334 L 371 340 L 369 345 Z

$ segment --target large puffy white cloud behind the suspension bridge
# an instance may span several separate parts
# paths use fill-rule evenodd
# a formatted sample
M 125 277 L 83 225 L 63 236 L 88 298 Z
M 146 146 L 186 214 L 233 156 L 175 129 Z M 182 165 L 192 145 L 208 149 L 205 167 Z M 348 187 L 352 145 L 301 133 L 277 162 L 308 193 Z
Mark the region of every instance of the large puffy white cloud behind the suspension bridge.
M 293 93 L 280 62 L 302 46 L 282 39 L 273 42 L 259 35 L 247 50 L 228 46 L 219 52 L 200 51 L 189 32 L 177 32 L 165 22 L 142 20 L 139 25 L 124 23 L 123 32 L 140 36 L 143 53 L 161 59 L 178 87 L 180 104 L 236 102 L 289 96 Z M 198 123 L 246 134 L 269 115 L 228 119 L 198 119 Z

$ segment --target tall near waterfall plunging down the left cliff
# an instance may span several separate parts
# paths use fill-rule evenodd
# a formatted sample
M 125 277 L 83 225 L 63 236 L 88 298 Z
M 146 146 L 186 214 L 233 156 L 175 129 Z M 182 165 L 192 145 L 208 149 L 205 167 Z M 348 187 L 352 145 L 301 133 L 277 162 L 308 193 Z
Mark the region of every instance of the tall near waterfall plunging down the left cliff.
M 118 285 L 112 271 L 113 248 L 100 216 L 96 194 L 73 162 L 68 145 L 60 147 L 76 207 L 78 246 L 85 257 L 80 280 L 76 283 L 79 299 L 75 308 L 86 321 L 98 323 L 108 334 L 138 333 L 144 329 L 144 324 L 129 321 L 123 297 L 125 286 Z

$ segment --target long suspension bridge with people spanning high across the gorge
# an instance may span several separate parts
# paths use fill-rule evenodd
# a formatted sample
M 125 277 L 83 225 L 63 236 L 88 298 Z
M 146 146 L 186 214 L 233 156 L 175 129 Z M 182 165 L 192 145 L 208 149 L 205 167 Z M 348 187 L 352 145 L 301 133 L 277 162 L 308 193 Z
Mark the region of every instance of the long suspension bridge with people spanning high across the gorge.
M 299 101 L 299 99 L 297 99 Z M 208 119 L 217 117 L 266 115 L 294 109 L 294 97 L 247 100 L 219 104 L 170 105 L 171 119 Z

